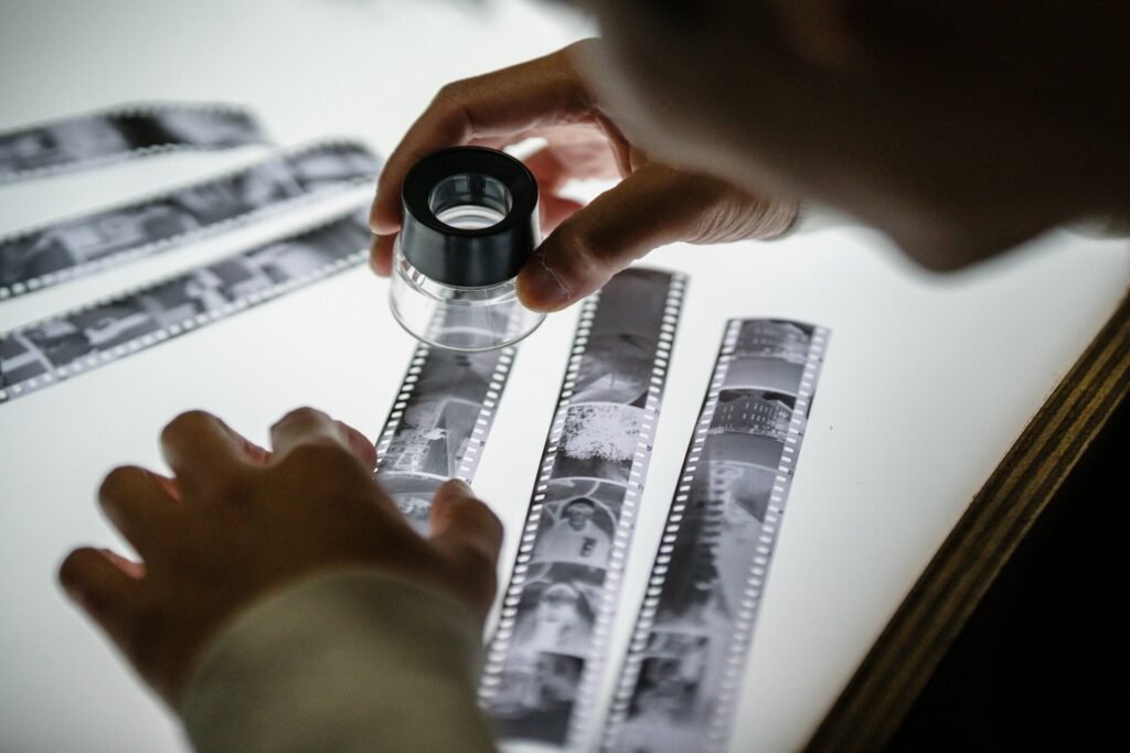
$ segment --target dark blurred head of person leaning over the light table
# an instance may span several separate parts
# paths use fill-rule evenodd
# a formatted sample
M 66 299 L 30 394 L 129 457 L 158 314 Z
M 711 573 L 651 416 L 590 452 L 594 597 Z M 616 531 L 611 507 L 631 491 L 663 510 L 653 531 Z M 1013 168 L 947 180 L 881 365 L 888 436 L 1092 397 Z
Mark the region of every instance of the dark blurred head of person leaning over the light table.
M 593 84 L 645 150 L 841 207 L 954 269 L 1130 217 L 1130 5 L 585 2 Z

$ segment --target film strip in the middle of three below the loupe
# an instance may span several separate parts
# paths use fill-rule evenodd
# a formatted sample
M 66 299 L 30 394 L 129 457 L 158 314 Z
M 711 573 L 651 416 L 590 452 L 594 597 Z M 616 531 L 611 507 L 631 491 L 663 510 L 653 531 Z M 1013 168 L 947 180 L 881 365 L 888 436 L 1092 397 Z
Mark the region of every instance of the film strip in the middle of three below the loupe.
M 597 682 L 686 279 L 633 268 L 583 305 L 479 686 L 504 738 L 575 737 Z

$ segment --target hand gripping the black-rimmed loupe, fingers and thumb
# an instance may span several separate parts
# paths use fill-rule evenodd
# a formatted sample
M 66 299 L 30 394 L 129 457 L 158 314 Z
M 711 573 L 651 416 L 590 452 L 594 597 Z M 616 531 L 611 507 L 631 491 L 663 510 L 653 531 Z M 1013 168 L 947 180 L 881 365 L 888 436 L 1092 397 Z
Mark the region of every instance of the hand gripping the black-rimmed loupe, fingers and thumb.
M 450 84 L 409 129 L 377 183 L 372 265 L 392 268 L 400 189 L 423 157 L 452 146 L 502 149 L 529 138 L 527 159 L 549 235 L 518 278 L 534 310 L 556 310 L 599 289 L 655 246 L 770 238 L 791 227 L 797 202 L 747 193 L 703 174 L 650 161 L 598 102 L 576 67 L 580 42 L 512 68 Z M 623 178 L 589 205 L 560 194 L 573 178 Z

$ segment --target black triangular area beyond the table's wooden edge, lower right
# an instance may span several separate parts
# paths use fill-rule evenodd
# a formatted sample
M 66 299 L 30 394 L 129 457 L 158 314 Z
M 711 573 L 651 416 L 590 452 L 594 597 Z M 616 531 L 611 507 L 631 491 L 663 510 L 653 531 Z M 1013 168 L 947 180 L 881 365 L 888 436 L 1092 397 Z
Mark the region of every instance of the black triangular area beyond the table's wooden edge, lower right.
M 888 750 L 1121 747 L 1130 400 L 1036 520 Z

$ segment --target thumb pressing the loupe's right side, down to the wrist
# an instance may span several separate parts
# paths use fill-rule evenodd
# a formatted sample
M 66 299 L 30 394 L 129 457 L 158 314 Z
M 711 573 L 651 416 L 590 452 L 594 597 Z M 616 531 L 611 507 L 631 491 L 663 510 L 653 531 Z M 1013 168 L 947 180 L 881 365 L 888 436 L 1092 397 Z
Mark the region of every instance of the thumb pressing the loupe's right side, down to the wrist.
M 791 199 L 650 163 L 563 221 L 522 268 L 518 295 L 533 310 L 558 310 L 657 246 L 771 238 L 796 216 Z

